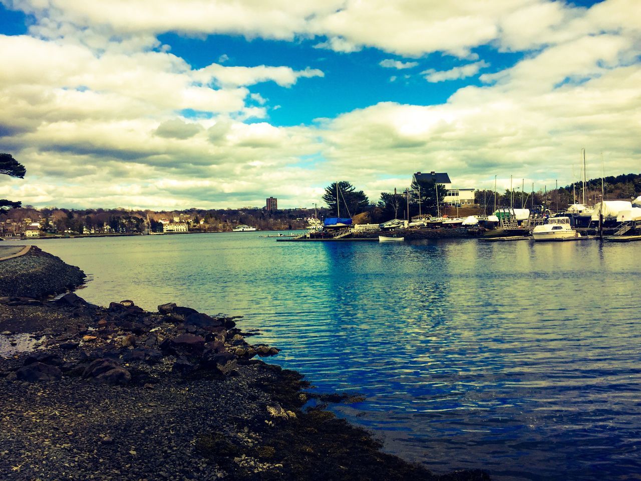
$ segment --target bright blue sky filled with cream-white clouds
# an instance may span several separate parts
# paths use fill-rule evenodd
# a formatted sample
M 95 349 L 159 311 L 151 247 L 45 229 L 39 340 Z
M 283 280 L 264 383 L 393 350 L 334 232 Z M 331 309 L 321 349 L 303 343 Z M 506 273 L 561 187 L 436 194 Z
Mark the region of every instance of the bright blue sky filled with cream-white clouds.
M 0 0 L 0 198 L 370 201 L 641 173 L 638 0 Z M 602 160 L 603 159 L 603 160 Z M 640 193 L 641 194 L 641 193 Z

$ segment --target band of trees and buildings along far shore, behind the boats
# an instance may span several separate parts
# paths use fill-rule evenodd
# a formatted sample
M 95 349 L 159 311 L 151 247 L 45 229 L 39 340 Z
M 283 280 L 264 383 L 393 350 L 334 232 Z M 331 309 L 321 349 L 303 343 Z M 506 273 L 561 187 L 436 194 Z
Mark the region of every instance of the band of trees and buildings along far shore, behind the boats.
M 376 202 L 367 199 L 347 181 L 338 183 L 340 202 L 337 202 L 336 183 L 326 188 L 323 196 L 328 207 L 278 208 L 278 198 L 265 199 L 263 207 L 239 209 L 185 210 L 128 210 L 124 208 L 67 209 L 35 208 L 26 205 L 0 211 L 0 236 L 3 239 L 56 238 L 101 235 L 140 235 L 232 232 L 238 226 L 256 230 L 303 230 L 315 219 L 349 216 L 354 223 L 380 223 L 395 218 L 451 212 L 457 215 L 487 214 L 494 207 L 522 208 L 547 205 L 558 210 L 567 207 L 581 192 L 578 182 L 565 187 L 533 191 L 524 182 L 514 181 L 515 187 L 504 192 L 493 189 L 456 188 L 447 173 L 417 172 L 412 174 L 412 188 L 398 192 L 381 192 Z M 520 183 L 520 185 L 519 185 Z M 438 190 L 440 189 L 440 194 Z M 588 199 L 598 201 L 601 179 L 585 184 Z M 529 190 L 529 192 L 528 192 Z M 604 192 L 609 199 L 633 198 L 641 192 L 641 174 L 625 174 L 604 178 Z M 341 207 L 344 206 L 344 207 Z M 342 210 L 341 210 L 342 209 Z M 448 211 L 449 210 L 449 211 Z

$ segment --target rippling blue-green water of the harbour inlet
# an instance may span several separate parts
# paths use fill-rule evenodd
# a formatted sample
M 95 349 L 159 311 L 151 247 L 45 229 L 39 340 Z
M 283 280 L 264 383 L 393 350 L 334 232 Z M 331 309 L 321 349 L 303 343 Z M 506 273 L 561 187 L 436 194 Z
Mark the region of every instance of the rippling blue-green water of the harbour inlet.
M 641 244 L 35 241 L 81 296 L 244 315 L 388 451 L 496 480 L 641 477 Z M 392 244 L 392 245 L 390 245 Z

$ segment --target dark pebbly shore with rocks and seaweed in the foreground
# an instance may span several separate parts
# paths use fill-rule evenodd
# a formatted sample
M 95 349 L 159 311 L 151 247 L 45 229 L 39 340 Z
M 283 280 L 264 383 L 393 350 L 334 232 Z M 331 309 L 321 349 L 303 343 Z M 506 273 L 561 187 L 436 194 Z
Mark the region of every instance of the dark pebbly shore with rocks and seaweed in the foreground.
M 383 453 L 326 410 L 358 397 L 306 391 L 301 374 L 260 360 L 278 349 L 249 342 L 257 333 L 238 319 L 175 303 L 147 312 L 72 292 L 45 298 L 84 277 L 37 248 L 0 262 L 5 479 L 490 479 L 434 475 Z

